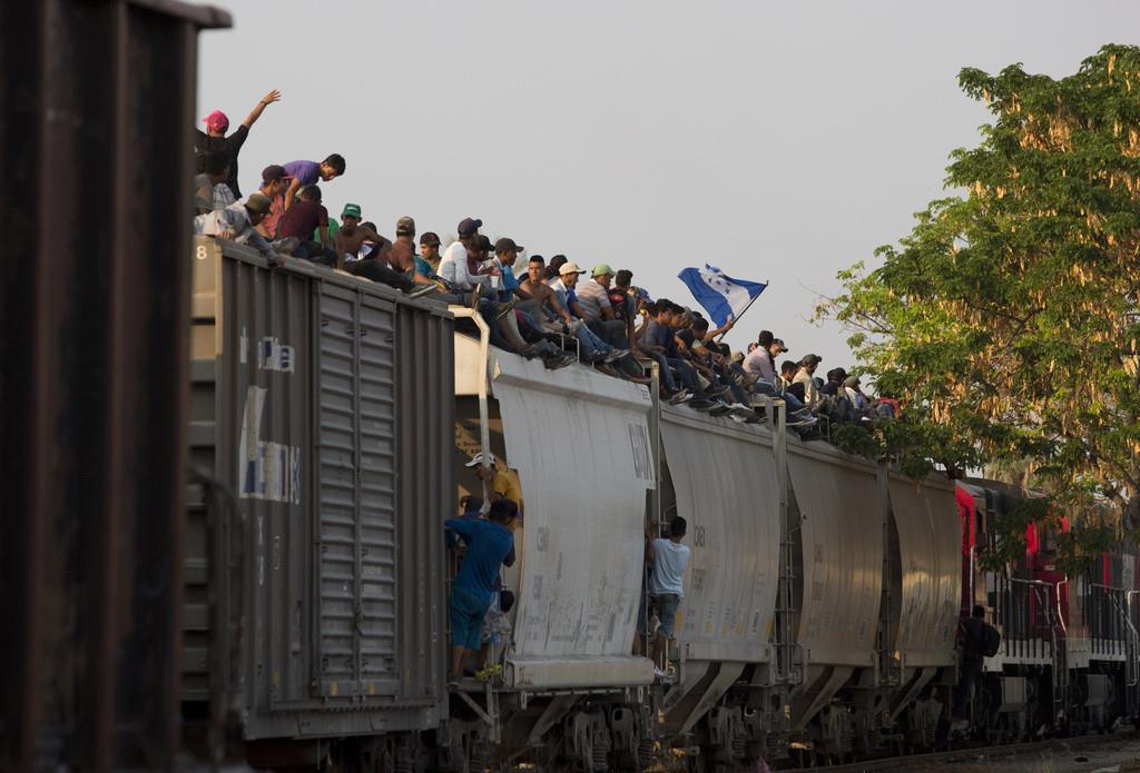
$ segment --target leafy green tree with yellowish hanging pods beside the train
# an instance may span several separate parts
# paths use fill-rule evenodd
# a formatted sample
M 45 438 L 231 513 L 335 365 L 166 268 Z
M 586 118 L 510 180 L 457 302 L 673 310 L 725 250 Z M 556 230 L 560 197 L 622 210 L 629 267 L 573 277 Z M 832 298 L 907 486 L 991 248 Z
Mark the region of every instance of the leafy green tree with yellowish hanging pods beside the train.
M 1060 80 L 1013 65 L 959 82 L 994 118 L 951 155 L 958 195 L 820 309 L 905 405 L 862 443 L 915 470 L 1029 459 L 1058 508 L 1105 497 L 1135 523 L 1140 49 L 1105 46 Z

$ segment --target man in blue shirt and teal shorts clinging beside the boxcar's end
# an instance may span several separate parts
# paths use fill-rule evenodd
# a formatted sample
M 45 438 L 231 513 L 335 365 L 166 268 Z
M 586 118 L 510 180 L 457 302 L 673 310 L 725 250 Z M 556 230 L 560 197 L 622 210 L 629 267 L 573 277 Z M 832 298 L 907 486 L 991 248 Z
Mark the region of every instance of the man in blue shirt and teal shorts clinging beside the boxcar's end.
M 487 520 L 449 518 L 445 525 L 466 543 L 459 571 L 451 583 L 451 684 L 463 679 L 464 660 L 482 647 L 483 618 L 490 607 L 499 567 L 514 565 L 511 525 L 519 512 L 511 500 L 491 503 Z

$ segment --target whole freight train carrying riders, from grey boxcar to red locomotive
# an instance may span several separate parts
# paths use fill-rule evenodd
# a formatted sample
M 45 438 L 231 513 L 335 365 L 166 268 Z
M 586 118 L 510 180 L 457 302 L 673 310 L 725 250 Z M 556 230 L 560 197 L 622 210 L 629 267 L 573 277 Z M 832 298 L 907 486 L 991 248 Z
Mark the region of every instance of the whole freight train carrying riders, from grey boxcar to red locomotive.
M 181 699 L 187 747 L 277 770 L 830 764 L 1137 715 L 1135 557 L 1052 535 L 984 571 L 1020 494 L 904 477 L 494 350 L 470 312 L 198 238 Z M 465 319 L 467 318 L 467 319 Z M 457 327 L 466 332 L 456 331 Z M 502 674 L 448 688 L 443 520 L 491 451 L 523 518 Z M 644 544 L 692 559 L 663 675 L 633 655 Z M 961 616 L 1002 633 L 950 721 Z

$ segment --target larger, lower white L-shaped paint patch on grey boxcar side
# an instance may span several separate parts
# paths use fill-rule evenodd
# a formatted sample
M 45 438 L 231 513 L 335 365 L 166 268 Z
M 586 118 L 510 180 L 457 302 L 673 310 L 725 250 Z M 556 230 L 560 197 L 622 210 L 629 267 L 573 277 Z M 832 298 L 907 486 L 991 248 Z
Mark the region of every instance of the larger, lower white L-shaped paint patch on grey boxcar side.
M 242 412 L 237 477 L 242 499 L 301 503 L 301 449 L 261 439 L 261 414 L 268 389 L 250 385 Z

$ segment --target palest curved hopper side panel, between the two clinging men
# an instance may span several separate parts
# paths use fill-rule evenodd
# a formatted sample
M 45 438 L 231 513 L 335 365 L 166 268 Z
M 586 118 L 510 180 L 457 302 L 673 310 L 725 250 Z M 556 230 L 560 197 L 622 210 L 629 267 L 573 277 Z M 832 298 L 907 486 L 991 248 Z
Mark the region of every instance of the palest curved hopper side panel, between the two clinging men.
M 511 657 L 627 656 L 653 486 L 649 395 L 586 368 L 552 376 L 513 354 L 499 353 L 492 372 L 526 500 Z

